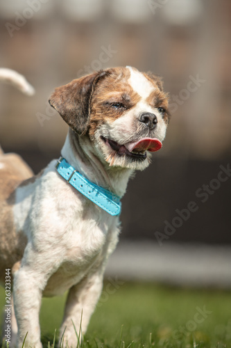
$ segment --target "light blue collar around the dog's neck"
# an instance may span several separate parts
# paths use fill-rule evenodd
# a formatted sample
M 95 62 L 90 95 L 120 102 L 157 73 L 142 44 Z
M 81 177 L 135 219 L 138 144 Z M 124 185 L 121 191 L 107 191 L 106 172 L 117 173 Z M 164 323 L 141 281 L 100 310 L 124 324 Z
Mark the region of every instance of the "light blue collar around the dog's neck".
M 87 180 L 83 175 L 78 173 L 65 158 L 60 157 L 60 159 L 58 159 L 56 169 L 69 184 L 105 210 L 105 212 L 108 212 L 112 216 L 120 214 L 121 202 L 119 196 Z

